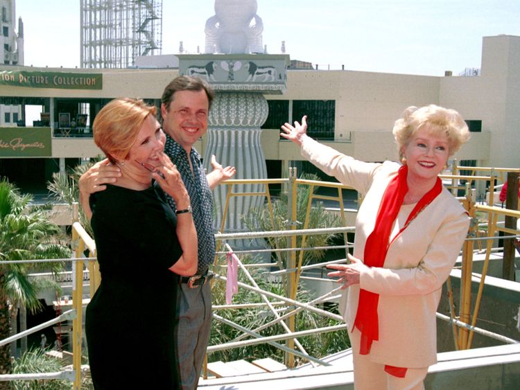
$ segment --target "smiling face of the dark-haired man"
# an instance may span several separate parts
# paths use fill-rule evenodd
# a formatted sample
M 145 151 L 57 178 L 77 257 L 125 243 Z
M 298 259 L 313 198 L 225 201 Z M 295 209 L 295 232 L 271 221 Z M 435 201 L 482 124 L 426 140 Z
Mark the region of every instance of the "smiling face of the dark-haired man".
M 191 147 L 207 131 L 209 100 L 202 91 L 177 91 L 169 105 L 161 105 L 163 127 L 189 154 Z

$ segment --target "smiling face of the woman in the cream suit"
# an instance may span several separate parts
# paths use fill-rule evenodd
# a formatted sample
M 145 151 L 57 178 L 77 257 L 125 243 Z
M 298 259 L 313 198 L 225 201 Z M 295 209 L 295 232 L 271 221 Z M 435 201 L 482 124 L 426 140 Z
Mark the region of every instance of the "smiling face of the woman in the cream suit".
M 408 166 L 408 177 L 415 181 L 435 181 L 449 157 L 449 141 L 446 134 L 428 129 L 418 130 L 402 150 Z

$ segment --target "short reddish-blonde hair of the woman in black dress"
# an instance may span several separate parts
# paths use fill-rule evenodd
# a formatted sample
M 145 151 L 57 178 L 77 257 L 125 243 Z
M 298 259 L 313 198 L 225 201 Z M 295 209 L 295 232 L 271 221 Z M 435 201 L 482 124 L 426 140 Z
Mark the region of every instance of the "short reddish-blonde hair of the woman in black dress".
M 157 109 L 141 99 L 116 98 L 96 115 L 92 129 L 94 142 L 112 163 L 128 156 L 148 115 Z

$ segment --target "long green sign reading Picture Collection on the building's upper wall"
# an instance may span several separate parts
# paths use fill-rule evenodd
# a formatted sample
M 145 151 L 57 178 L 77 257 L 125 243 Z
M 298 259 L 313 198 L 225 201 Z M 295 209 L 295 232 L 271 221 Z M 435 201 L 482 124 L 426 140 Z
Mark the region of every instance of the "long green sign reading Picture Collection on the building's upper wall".
M 11 87 L 103 89 L 101 73 L 0 71 L 0 85 Z

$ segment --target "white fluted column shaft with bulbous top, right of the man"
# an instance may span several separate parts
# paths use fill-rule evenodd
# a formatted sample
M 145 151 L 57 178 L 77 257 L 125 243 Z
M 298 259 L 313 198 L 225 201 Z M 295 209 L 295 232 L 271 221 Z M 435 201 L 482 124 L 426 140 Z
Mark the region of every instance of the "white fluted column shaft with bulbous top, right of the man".
M 208 143 L 204 164 L 211 171 L 211 154 L 215 154 L 223 166 L 235 166 L 234 179 L 266 179 L 266 160 L 261 148 L 261 125 L 266 121 L 268 104 L 259 92 L 225 92 L 216 94 L 209 115 Z M 262 184 L 239 184 L 237 193 L 257 193 L 264 190 Z M 216 205 L 215 227 L 220 229 L 227 186 L 214 190 Z M 263 204 L 265 197 L 232 197 L 227 211 L 225 231 L 245 231 L 241 217 L 250 209 Z

